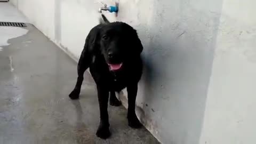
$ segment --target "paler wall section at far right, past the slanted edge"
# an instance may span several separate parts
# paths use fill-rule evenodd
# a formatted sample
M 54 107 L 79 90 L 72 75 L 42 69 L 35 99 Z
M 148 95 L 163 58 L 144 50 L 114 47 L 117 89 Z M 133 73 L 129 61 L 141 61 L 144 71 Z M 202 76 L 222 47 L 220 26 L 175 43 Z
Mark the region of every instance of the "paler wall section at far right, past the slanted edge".
M 200 143 L 256 143 L 256 1 L 224 1 Z

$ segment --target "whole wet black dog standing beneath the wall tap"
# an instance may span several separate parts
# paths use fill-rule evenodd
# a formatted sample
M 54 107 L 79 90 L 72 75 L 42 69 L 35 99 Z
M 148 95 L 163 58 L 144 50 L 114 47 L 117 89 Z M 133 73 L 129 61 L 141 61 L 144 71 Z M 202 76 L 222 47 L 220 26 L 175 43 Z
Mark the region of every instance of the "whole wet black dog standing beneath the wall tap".
M 78 78 L 75 89 L 69 94 L 78 99 L 83 82 L 84 71 L 90 67 L 97 84 L 100 106 L 100 125 L 97 136 L 106 139 L 110 136 L 108 122 L 108 97 L 110 105 L 119 106 L 121 102 L 115 92 L 127 87 L 129 126 L 139 128 L 141 123 L 135 114 L 135 100 L 138 82 L 142 75 L 143 50 L 137 31 L 124 22 L 109 22 L 104 15 L 100 24 L 91 29 L 86 37 L 84 49 L 78 62 Z

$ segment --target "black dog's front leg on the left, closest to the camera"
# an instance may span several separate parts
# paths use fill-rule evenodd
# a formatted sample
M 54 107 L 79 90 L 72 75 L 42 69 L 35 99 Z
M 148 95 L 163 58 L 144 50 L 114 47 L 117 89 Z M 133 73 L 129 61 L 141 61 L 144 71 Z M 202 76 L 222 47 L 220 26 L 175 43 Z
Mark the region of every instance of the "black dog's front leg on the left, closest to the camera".
M 98 100 L 100 106 L 100 125 L 96 135 L 99 138 L 107 139 L 110 137 L 109 122 L 108 122 L 108 97 L 109 90 L 104 84 L 97 84 Z

